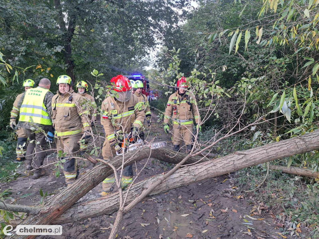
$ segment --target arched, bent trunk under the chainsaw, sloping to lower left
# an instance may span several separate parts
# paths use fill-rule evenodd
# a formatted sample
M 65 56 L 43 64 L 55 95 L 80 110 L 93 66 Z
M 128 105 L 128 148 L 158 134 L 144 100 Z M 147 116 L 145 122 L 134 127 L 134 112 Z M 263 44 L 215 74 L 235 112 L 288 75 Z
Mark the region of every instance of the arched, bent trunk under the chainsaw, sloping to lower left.
M 156 156 L 157 159 L 167 161 L 169 163 L 180 162 L 187 154 L 178 153 L 168 148 L 153 149 L 143 148 L 138 151 L 127 153 L 125 161 L 130 159 L 125 165 L 129 165 L 133 162 L 140 161 L 144 158 L 148 158 L 152 152 L 152 156 Z M 161 157 L 162 156 L 162 157 Z M 174 156 L 174 159 L 171 157 Z M 201 156 L 193 157 L 186 163 L 195 163 L 200 160 Z M 178 163 L 177 162 L 177 163 Z M 110 163 L 115 168 L 122 165 L 122 156 L 114 157 L 110 160 Z M 81 199 L 86 193 L 92 190 L 96 185 L 100 184 L 106 177 L 111 175 L 113 170 L 106 164 L 97 164 L 93 169 L 86 172 L 80 180 L 73 183 L 70 187 L 65 188 L 54 198 L 50 199 L 43 206 L 37 207 L 35 210 L 40 209 L 40 212 L 33 216 L 28 216 L 21 224 L 23 225 L 51 225 L 55 219 L 63 214 L 70 206 Z M 0 205 L 1 206 L 1 205 Z M 5 208 L 4 208 L 5 209 Z M 19 238 L 34 238 L 35 236 L 20 236 Z

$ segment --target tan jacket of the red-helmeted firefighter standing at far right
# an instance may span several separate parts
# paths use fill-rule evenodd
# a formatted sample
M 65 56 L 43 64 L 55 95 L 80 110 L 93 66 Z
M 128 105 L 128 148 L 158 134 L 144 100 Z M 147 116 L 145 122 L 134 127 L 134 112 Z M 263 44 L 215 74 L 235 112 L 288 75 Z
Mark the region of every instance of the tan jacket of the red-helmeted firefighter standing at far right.
M 173 127 L 180 125 L 192 126 L 193 119 L 196 124 L 199 122 L 199 115 L 196 110 L 196 102 L 186 92 L 183 96 L 176 91 L 170 95 L 167 101 L 167 107 L 164 114 L 164 123 L 169 123 L 173 119 Z

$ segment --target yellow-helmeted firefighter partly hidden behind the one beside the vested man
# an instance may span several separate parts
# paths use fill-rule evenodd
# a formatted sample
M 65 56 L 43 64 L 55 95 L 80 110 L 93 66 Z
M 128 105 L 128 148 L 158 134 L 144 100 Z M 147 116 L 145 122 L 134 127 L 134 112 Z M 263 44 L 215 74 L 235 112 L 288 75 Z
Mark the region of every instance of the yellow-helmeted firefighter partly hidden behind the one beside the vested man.
M 92 118 L 92 122 L 91 122 L 91 126 L 93 127 L 94 122 L 96 120 L 96 104 L 94 101 L 94 98 L 92 95 L 89 95 L 87 93 L 88 90 L 88 85 L 85 81 L 80 81 L 77 83 L 76 88 L 78 88 L 78 94 L 80 96 L 83 96 L 85 99 L 89 100 L 89 102 L 85 102 L 85 104 L 88 106 L 88 108 L 91 109 L 90 113 L 91 113 L 91 118 Z M 84 142 L 80 142 L 80 154 L 83 154 L 84 151 L 87 147 L 87 143 L 90 141 L 91 135 L 86 135 Z

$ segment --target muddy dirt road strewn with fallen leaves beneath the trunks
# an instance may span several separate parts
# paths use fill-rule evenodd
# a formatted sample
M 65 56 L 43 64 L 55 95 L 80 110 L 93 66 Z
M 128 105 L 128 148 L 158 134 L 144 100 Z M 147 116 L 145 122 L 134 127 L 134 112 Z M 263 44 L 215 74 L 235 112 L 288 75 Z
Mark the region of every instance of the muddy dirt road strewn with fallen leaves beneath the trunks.
M 155 141 L 164 140 L 171 146 L 170 135 L 164 134 L 161 124 L 152 124 L 149 138 L 154 137 Z M 48 159 L 48 163 L 53 161 Z M 146 159 L 138 162 L 137 168 L 142 168 L 145 162 Z M 85 161 L 79 161 L 78 165 L 79 179 L 93 167 Z M 137 181 L 166 172 L 171 167 L 150 159 Z M 135 165 L 133 169 L 136 170 Z M 16 204 L 39 205 L 40 188 L 43 192 L 56 193 L 65 187 L 63 174 L 56 178 L 52 166 L 46 171 L 47 175 L 40 179 L 21 176 L 3 184 L 2 188 L 12 189 Z M 145 199 L 124 216 L 117 238 L 282 238 L 274 223 L 273 212 L 262 203 L 254 202 L 249 195 L 238 192 L 234 177 L 235 174 L 224 175 Z M 80 201 L 100 197 L 100 190 L 101 184 Z M 255 211 L 251 212 L 253 208 Z M 62 236 L 38 238 L 108 238 L 115 216 L 113 213 L 67 223 L 63 225 Z

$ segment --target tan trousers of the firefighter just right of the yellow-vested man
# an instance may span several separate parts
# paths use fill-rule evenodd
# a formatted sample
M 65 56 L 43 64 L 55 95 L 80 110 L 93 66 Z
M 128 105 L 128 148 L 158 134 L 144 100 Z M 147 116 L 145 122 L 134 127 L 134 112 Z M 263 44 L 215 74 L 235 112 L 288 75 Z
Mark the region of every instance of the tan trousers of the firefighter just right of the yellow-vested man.
M 80 144 L 78 141 L 81 139 L 81 134 L 70 136 L 68 138 L 56 138 L 56 148 L 59 151 L 62 150 L 62 154 L 65 155 L 61 157 L 61 159 L 65 159 L 66 162 L 63 165 L 63 173 L 65 177 L 65 183 L 71 184 L 73 183 L 79 175 L 79 170 L 77 168 L 77 161 L 75 158 L 72 158 L 77 155 Z

